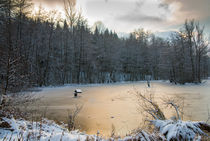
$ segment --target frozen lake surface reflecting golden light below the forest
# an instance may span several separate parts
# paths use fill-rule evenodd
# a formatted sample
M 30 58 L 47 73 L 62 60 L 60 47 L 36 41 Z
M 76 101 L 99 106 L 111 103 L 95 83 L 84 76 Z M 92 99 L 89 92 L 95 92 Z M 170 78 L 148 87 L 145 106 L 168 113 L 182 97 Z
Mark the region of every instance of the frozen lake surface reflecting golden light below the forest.
M 82 94 L 74 98 L 74 90 L 81 89 Z M 146 82 L 116 83 L 101 85 L 69 85 L 63 87 L 43 88 L 39 95 L 42 107 L 48 107 L 47 117 L 54 120 L 66 121 L 68 109 L 75 105 L 83 105 L 77 121 L 78 127 L 88 134 L 110 135 L 112 125 L 116 134 L 125 135 L 143 124 L 142 112 L 139 112 L 134 89 L 155 94 L 157 101 L 163 97 L 183 97 L 184 119 L 202 120 L 208 118 L 210 109 L 210 80 L 204 83 L 174 85 L 164 81 L 152 81 L 151 88 Z M 171 116 L 173 109 L 163 107 L 167 116 Z

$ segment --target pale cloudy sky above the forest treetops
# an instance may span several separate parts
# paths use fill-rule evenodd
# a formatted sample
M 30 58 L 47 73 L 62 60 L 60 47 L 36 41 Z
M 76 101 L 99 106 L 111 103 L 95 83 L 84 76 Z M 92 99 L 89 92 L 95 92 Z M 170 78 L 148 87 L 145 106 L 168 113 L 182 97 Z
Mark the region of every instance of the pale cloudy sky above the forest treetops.
M 62 12 L 62 0 L 34 0 L 46 9 Z M 102 21 L 116 32 L 145 28 L 153 32 L 178 30 L 194 18 L 210 33 L 210 0 L 77 0 L 89 25 Z

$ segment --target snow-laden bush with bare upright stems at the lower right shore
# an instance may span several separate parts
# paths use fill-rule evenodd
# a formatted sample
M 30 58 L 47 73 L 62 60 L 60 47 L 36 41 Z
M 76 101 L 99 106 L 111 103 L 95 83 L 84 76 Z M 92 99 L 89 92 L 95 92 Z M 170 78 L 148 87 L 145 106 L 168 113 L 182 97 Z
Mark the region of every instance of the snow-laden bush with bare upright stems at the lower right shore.
M 162 99 L 163 105 L 173 108 L 176 113 L 173 120 L 168 120 L 155 101 L 154 93 L 147 92 L 142 94 L 138 91 L 135 93 L 139 100 L 139 107 L 153 118 L 153 120 L 148 121 L 155 126 L 157 132 L 165 136 L 166 140 L 199 140 L 201 136 L 207 136 L 203 130 L 207 129 L 208 132 L 210 131 L 210 125 L 203 122 L 182 121 L 184 107 L 182 103 L 184 102 L 182 102 L 181 98 L 169 97 Z

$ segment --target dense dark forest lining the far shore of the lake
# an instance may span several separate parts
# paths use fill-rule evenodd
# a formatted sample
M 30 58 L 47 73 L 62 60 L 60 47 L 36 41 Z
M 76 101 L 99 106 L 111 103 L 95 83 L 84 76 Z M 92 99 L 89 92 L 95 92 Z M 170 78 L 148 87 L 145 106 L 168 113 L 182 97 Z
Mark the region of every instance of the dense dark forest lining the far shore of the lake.
M 208 42 L 199 22 L 186 20 L 168 39 L 137 29 L 119 38 L 89 27 L 76 1 L 65 2 L 66 19 L 29 0 L 0 1 L 1 93 L 33 86 L 152 79 L 200 83 L 209 76 Z M 139 25 L 141 27 L 141 25 Z

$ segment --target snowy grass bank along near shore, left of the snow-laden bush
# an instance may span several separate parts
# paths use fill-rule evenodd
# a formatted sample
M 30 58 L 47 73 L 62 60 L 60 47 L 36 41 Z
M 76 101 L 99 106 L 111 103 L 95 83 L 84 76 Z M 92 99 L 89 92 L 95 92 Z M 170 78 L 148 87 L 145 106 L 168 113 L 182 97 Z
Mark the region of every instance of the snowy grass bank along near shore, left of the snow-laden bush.
M 66 128 L 47 119 L 41 122 L 30 122 L 23 119 L 2 118 L 0 125 L 3 122 L 8 124 L 7 127 L 0 128 L 0 141 L 106 141 L 96 135 L 87 135 L 78 130 L 69 132 Z M 134 136 L 127 136 L 123 139 L 109 138 L 107 141 L 131 141 L 133 139 L 150 141 L 155 138 L 155 134 L 150 135 L 141 131 Z

